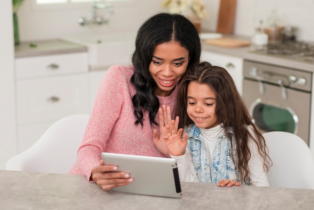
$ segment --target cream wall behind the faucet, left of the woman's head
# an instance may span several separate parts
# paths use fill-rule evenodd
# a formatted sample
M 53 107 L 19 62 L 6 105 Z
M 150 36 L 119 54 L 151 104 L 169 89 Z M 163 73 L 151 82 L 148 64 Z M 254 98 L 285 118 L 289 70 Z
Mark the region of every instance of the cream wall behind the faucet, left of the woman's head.
M 21 41 L 56 39 L 72 34 L 107 33 L 110 31 L 137 30 L 141 23 L 150 15 L 158 12 L 161 1 L 133 0 L 133 3 L 123 5 L 112 3 L 114 14 L 109 24 L 100 26 L 80 26 L 79 17 L 91 14 L 91 3 L 78 9 L 42 9 L 32 7 L 32 0 L 25 0 L 18 11 Z M 118 6 L 115 6 L 118 4 Z M 122 6 L 121 6 L 122 5 Z M 98 10 L 105 16 L 104 10 Z

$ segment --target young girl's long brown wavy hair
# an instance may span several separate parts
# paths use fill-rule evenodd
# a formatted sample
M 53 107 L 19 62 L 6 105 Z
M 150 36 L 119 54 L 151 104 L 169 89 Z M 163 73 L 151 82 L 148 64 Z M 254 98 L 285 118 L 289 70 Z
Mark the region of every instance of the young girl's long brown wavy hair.
M 228 71 L 219 66 L 213 66 L 209 62 L 201 62 L 195 69 L 185 75 L 180 83 L 176 115 L 179 116 L 179 128 L 183 128 L 193 123 L 187 114 L 187 91 L 188 85 L 191 82 L 207 84 L 217 97 L 216 116 L 219 123 L 222 123 L 225 134 L 231 139 L 229 129 L 233 130 L 235 144 L 231 150 L 236 148 L 237 157 L 232 157 L 235 166 L 239 169 L 240 179 L 246 184 L 249 178 L 248 161 L 251 157 L 248 140 L 251 138 L 257 145 L 258 153 L 264 159 L 264 170 L 268 172 L 271 166 L 271 160 L 267 153 L 267 146 L 262 134 L 253 124 L 250 114 L 245 106 L 245 103 L 239 94 L 236 85 L 228 73 Z M 252 126 L 256 139 L 249 133 L 247 126 Z M 232 153 L 231 153 L 232 155 Z M 237 159 L 238 161 L 235 161 Z M 236 164 L 237 162 L 237 164 Z

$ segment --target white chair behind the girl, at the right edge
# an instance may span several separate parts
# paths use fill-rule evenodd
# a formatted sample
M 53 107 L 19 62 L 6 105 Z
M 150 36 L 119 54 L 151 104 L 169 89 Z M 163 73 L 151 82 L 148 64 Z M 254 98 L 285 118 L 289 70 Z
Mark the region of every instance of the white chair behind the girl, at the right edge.
M 273 165 L 267 173 L 272 187 L 314 189 L 314 159 L 298 136 L 273 131 L 263 134 Z

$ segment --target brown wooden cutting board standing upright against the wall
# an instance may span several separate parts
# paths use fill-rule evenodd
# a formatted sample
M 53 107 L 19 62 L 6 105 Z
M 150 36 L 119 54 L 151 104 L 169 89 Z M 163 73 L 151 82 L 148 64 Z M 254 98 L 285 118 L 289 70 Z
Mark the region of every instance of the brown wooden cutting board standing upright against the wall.
M 232 34 L 235 19 L 236 0 L 220 0 L 217 32 Z

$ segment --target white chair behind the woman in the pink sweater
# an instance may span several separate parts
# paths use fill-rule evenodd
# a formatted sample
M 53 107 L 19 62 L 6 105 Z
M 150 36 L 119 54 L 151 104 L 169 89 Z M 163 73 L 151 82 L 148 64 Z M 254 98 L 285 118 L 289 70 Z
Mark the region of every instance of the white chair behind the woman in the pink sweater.
M 72 115 L 55 122 L 29 149 L 12 157 L 7 170 L 66 174 L 76 161 L 89 115 Z

